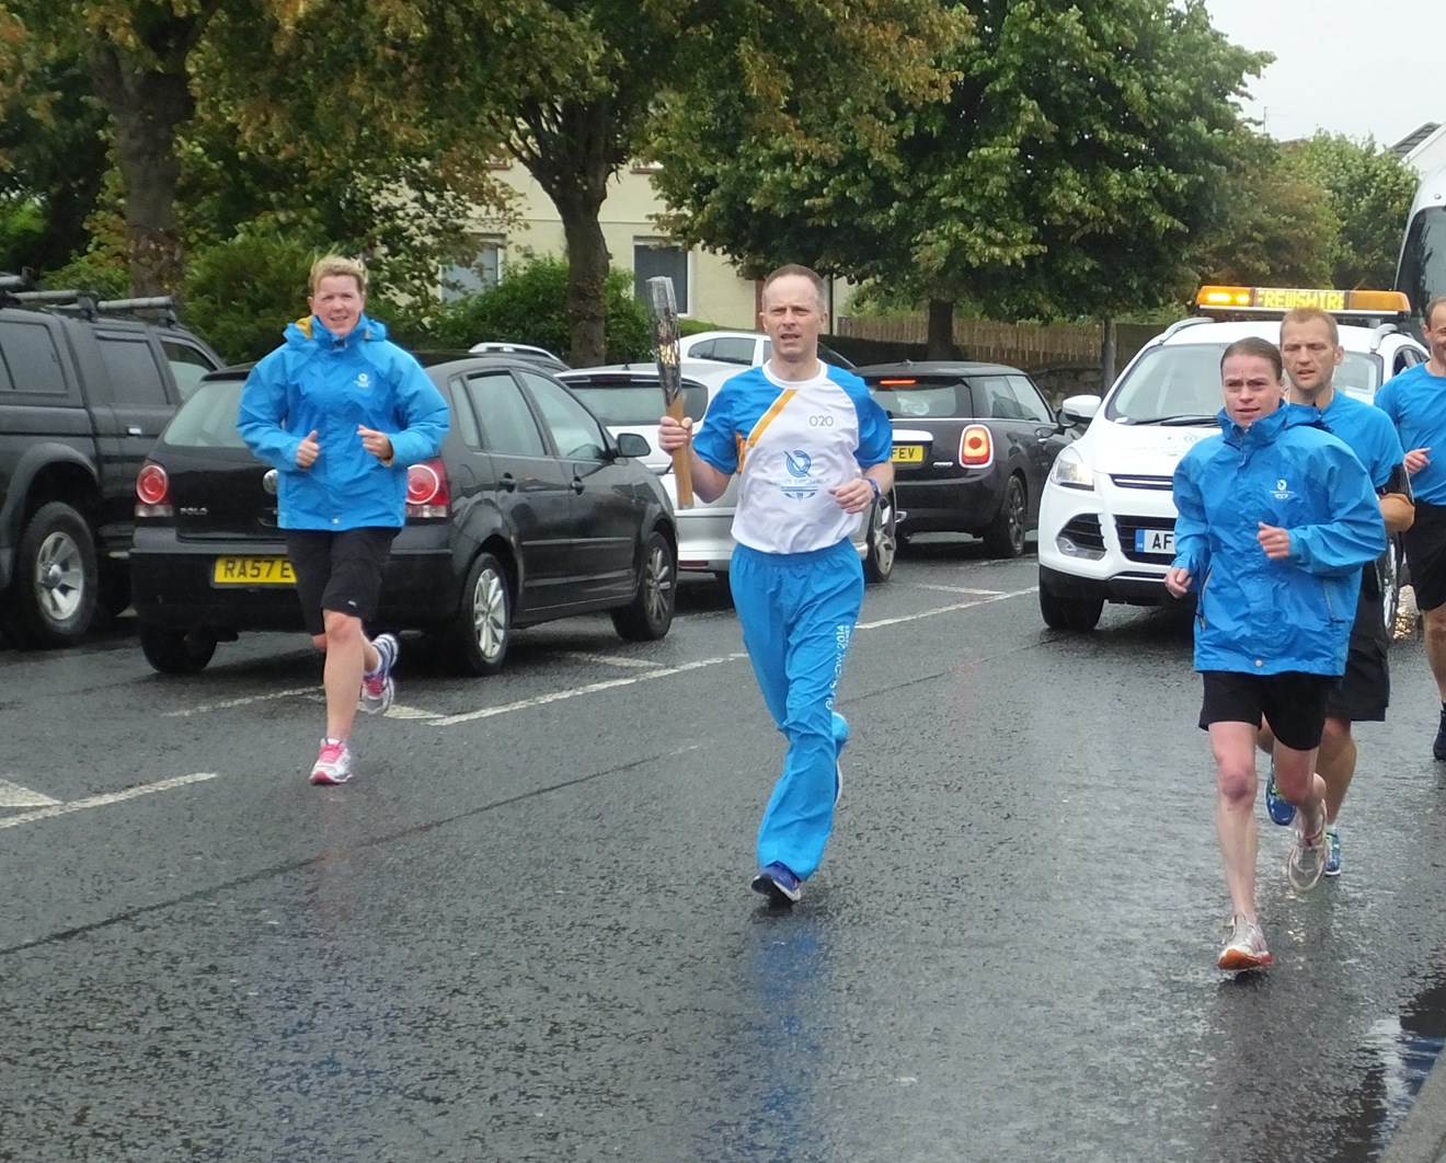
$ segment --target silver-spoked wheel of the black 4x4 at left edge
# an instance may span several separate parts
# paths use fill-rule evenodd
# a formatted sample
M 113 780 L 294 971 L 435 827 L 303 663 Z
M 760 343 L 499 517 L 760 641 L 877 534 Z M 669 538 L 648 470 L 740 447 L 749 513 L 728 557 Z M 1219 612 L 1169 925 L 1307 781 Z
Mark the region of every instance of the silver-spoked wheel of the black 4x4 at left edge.
M 85 519 L 64 501 L 42 504 L 20 535 L 6 605 L 16 646 L 75 646 L 95 617 L 100 575 Z

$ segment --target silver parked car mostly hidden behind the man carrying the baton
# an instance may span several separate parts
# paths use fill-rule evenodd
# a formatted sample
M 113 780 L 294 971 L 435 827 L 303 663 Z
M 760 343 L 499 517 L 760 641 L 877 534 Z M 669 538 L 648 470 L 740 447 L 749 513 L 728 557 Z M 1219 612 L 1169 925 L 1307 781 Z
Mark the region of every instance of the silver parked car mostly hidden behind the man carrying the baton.
M 737 364 L 714 360 L 683 361 L 684 415 L 698 420 L 717 390 L 739 373 Z M 737 506 L 737 480 L 729 483 L 717 500 L 696 500 L 678 507 L 677 477 L 672 458 L 656 449 L 658 419 L 662 416 L 662 389 L 658 366 L 616 364 L 567 371 L 558 376 L 616 436 L 632 432 L 643 436 L 654 451 L 646 464 L 662 474 L 664 487 L 674 503 L 678 522 L 678 569 L 723 575 L 733 556 L 733 510 Z M 859 520 L 853 543 L 863 559 L 863 574 L 870 582 L 884 582 L 894 572 L 898 523 L 902 519 L 892 494 L 879 497 Z

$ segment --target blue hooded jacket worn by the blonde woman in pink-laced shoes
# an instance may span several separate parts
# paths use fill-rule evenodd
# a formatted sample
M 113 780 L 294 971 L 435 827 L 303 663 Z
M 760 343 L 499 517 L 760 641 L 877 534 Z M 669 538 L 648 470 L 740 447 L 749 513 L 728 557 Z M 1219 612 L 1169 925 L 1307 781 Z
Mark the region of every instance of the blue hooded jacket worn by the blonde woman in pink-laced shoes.
M 447 402 L 416 360 L 363 315 L 337 338 L 320 319 L 288 324 L 286 341 L 246 377 L 236 428 L 279 475 L 282 529 L 401 529 L 406 470 L 435 457 L 447 435 Z M 362 445 L 357 428 L 385 432 L 392 462 Z M 317 433 L 311 468 L 296 449 Z

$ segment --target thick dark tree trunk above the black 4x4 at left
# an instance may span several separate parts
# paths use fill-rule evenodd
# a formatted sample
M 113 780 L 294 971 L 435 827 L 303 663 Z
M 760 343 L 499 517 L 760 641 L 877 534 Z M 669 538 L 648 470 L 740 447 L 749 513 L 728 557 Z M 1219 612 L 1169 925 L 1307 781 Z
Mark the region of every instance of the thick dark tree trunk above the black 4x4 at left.
M 130 292 L 178 295 L 185 263 L 175 220 L 181 176 L 175 137 L 176 127 L 195 113 L 184 64 L 175 72 L 146 72 L 114 45 L 103 45 L 91 52 L 90 72 L 116 123 Z

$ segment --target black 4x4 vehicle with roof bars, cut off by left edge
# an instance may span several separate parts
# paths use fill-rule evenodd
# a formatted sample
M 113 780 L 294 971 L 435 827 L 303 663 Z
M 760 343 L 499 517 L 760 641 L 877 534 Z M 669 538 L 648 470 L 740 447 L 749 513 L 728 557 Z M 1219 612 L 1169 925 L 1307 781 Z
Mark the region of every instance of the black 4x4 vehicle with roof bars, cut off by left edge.
M 0 628 L 69 646 L 130 602 L 136 472 L 223 360 L 169 299 L 27 287 L 0 276 Z

